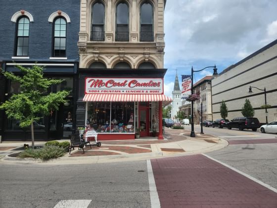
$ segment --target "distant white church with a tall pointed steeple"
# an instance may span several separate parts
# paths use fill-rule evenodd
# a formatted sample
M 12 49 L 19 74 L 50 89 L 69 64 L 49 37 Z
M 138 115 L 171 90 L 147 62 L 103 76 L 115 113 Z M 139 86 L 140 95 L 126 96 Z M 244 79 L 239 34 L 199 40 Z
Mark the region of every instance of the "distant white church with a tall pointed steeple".
M 171 109 L 171 118 L 177 121 L 175 116 L 177 116 L 179 107 L 182 105 L 181 90 L 179 86 L 177 71 L 175 76 L 174 89 L 172 91 L 172 99 L 173 99 L 173 102 L 172 102 L 172 109 Z

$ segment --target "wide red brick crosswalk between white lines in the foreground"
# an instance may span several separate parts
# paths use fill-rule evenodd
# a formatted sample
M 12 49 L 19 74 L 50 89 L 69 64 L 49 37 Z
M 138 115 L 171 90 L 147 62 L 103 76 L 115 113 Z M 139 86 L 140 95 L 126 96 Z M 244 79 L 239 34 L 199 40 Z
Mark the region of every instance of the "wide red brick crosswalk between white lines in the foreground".
M 277 193 L 205 156 L 151 164 L 161 208 L 277 208 Z

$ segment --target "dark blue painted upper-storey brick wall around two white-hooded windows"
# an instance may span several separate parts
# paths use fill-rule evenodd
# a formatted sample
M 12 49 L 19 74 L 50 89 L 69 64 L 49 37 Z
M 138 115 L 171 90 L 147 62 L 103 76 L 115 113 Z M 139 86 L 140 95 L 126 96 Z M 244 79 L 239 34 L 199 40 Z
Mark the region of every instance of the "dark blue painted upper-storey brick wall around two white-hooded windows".
M 11 17 L 21 9 L 30 12 L 34 18 L 34 22 L 30 22 L 30 60 L 49 59 L 52 56 L 52 23 L 48 22 L 48 17 L 57 10 L 67 13 L 71 19 L 71 23 L 67 24 L 66 56 L 68 59 L 79 59 L 79 0 L 0 0 L 0 5 L 0 60 L 14 56 L 16 23 L 11 21 Z

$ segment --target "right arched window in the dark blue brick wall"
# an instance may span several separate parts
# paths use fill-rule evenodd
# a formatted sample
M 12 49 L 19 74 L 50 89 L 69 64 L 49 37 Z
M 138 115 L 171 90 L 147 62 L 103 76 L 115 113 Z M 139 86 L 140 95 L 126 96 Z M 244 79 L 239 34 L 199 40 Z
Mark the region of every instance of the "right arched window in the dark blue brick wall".
M 53 24 L 53 56 L 66 56 L 66 20 L 57 17 Z

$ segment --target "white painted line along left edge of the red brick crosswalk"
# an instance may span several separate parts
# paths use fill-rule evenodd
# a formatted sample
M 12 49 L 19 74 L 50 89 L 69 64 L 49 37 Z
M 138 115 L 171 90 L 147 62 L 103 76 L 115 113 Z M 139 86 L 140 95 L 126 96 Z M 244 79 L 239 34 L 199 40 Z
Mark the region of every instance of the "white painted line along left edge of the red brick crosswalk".
M 158 196 L 158 192 L 155 184 L 151 161 L 150 159 L 147 159 L 146 162 L 147 162 L 151 208 L 160 208 L 161 205 L 160 205 L 160 200 L 159 200 L 159 196 Z

